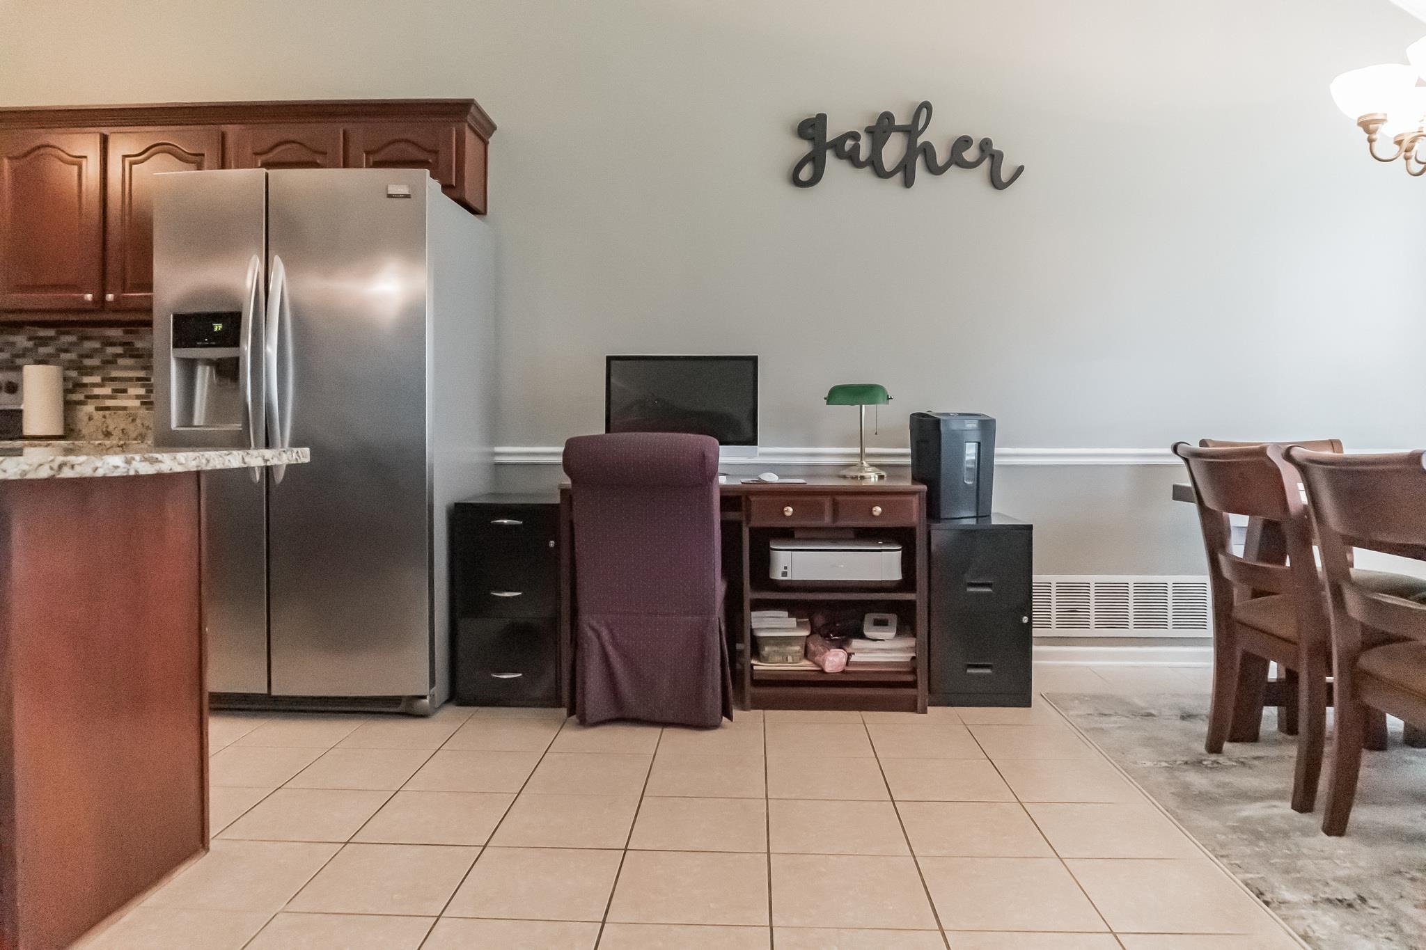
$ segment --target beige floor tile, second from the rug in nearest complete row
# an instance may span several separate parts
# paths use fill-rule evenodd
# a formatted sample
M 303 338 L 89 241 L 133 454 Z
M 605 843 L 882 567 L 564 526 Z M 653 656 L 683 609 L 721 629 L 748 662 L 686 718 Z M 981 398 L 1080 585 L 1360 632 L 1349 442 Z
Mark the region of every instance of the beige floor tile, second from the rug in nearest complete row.
M 947 930 L 1108 930 L 1054 857 L 921 857 Z

